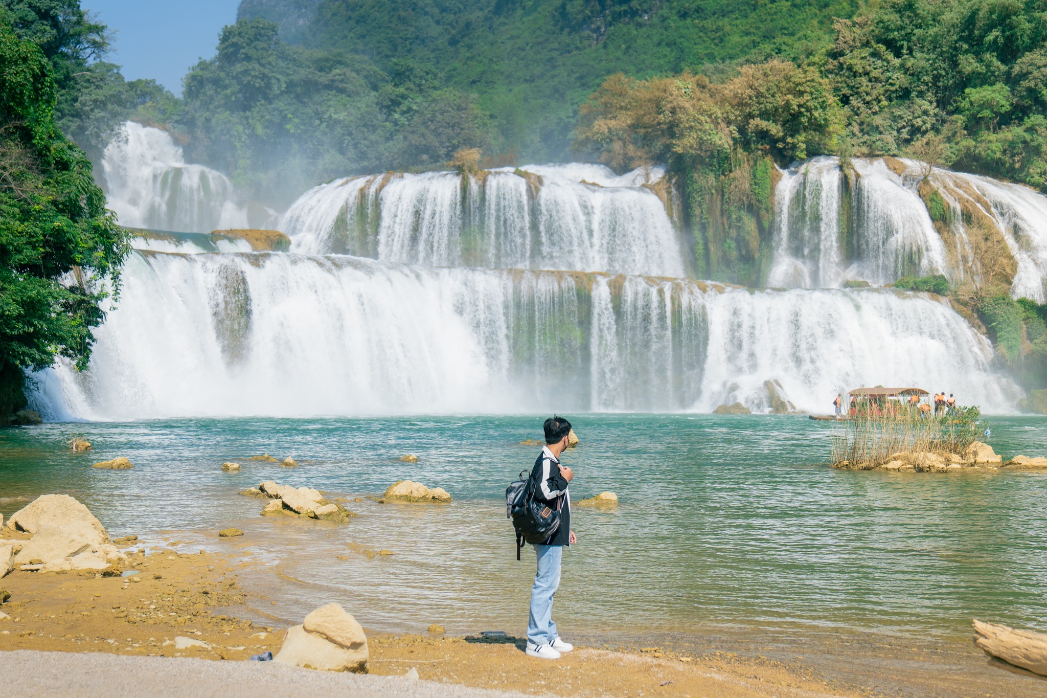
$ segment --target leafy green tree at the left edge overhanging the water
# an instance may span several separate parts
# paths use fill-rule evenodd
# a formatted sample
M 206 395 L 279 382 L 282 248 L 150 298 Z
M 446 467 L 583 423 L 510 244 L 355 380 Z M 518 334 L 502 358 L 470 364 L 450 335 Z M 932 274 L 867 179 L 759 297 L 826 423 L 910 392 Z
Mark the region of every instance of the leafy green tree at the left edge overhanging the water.
M 83 151 L 59 131 L 52 66 L 0 22 L 0 418 L 25 404 L 22 370 L 84 367 L 118 288 L 128 235 Z

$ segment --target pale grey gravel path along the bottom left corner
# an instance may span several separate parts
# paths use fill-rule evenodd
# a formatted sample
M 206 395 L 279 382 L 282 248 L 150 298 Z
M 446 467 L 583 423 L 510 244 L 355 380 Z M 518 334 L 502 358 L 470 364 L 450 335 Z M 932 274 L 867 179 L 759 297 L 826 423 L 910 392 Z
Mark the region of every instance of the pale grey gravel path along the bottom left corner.
M 0 696 L 353 696 L 522 698 L 450 683 L 298 669 L 274 661 L 213 661 L 105 653 L 0 652 Z

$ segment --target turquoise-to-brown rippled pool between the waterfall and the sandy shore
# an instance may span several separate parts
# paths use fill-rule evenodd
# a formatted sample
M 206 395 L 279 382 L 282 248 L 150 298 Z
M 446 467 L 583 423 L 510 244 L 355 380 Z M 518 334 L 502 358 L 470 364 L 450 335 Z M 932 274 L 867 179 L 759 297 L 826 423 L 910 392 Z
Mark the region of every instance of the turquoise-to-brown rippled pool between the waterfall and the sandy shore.
M 336 600 L 369 628 L 522 633 L 533 553 L 516 562 L 503 492 L 530 468 L 539 416 L 177 420 L 48 424 L 0 431 L 0 513 L 40 495 L 84 501 L 113 535 L 182 535 L 250 551 L 241 575 L 296 618 Z M 1047 420 L 992 418 L 990 444 L 1043 455 Z M 619 506 L 573 510 L 556 617 L 594 637 L 873 632 L 968 641 L 972 617 L 1047 630 L 1047 475 L 834 471 L 832 425 L 797 416 L 585 414 L 573 499 L 611 490 Z M 94 444 L 65 450 L 71 432 Z M 241 460 L 291 455 L 294 469 Z M 399 456 L 413 453 L 416 464 Z M 95 470 L 129 457 L 131 471 Z M 348 525 L 259 516 L 237 494 L 267 479 L 329 496 L 378 495 L 410 478 L 449 505 L 348 506 Z M 335 494 L 337 493 L 337 494 Z M 215 538 L 238 525 L 243 538 Z M 355 545 L 351 545 L 355 544 Z M 395 555 L 370 558 L 362 547 Z M 343 558 L 343 559 L 339 559 Z M 269 599 L 276 604 L 269 609 Z M 261 602 L 260 602 L 261 606 Z

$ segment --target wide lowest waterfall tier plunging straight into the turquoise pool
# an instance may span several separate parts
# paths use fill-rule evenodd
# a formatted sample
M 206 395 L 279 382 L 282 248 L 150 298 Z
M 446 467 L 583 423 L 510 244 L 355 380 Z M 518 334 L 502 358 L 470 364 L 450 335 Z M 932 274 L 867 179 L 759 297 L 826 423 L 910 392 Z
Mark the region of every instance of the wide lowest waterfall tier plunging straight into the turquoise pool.
M 950 306 L 892 290 L 436 269 L 350 256 L 135 252 L 88 370 L 38 374 L 49 419 L 770 408 L 915 384 L 1018 390 Z

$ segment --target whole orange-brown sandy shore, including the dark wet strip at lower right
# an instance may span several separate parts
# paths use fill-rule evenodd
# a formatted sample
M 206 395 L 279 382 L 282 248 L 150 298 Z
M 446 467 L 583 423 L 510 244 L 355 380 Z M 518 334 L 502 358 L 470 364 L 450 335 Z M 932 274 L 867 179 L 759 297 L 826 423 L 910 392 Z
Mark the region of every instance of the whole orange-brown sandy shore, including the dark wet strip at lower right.
M 0 580 L 12 594 L 0 607 L 10 616 L 0 620 L 0 651 L 211 660 L 279 651 L 287 621 L 271 612 L 275 602 L 241 586 L 239 573 L 257 565 L 249 551 L 186 553 L 178 540 L 169 545 L 121 546 L 137 572 L 131 577 L 12 572 Z M 179 649 L 176 637 L 205 646 Z M 575 652 L 545 661 L 528 657 L 522 638 L 510 635 L 369 632 L 370 671 L 395 676 L 415 669 L 423 680 L 562 696 L 1047 695 L 1047 681 L 993 666 L 973 648 L 861 635 L 811 638 L 798 651 L 785 635 L 640 631 L 628 641 L 577 638 Z

